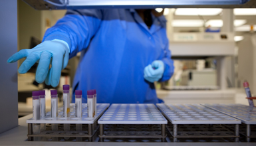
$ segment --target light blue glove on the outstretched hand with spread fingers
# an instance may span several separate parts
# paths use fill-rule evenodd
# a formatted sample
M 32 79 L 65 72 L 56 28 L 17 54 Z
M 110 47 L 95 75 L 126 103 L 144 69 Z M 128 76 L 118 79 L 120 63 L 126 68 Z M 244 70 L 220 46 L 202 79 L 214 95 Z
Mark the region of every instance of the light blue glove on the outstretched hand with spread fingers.
M 56 87 L 61 78 L 61 70 L 68 64 L 69 46 L 63 40 L 46 40 L 35 48 L 20 50 L 7 62 L 13 63 L 21 58 L 26 60 L 19 67 L 20 74 L 25 74 L 35 62 L 39 61 L 35 80 L 39 83 L 45 81 L 45 84 Z

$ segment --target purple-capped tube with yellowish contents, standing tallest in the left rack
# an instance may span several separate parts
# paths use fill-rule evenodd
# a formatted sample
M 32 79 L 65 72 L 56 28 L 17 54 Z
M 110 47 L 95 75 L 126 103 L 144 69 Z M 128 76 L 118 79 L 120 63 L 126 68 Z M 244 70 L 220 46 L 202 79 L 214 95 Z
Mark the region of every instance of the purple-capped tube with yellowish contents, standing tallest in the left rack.
M 63 85 L 63 116 L 69 117 L 70 112 L 70 94 L 69 94 L 69 85 Z M 64 131 L 70 130 L 70 124 L 64 123 L 63 125 Z M 69 139 L 69 137 L 64 137 L 64 139 Z

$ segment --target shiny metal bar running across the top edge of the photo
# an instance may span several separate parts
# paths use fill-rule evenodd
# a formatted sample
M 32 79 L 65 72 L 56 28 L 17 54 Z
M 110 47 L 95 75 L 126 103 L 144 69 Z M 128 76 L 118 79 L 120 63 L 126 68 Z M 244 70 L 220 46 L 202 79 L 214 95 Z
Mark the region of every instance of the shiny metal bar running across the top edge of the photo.
M 178 8 L 178 7 L 211 7 L 211 8 L 235 8 L 235 7 L 256 7 L 255 1 L 251 0 L 158 0 L 158 1 L 147 1 L 147 0 L 69 0 L 68 5 L 59 7 L 47 3 L 45 0 L 23 0 L 28 3 L 31 7 L 38 10 L 51 10 L 51 9 L 154 9 L 157 7 L 166 8 Z M 54 3 L 59 3 L 59 0 L 51 0 Z M 60 3 L 59 3 L 60 4 Z

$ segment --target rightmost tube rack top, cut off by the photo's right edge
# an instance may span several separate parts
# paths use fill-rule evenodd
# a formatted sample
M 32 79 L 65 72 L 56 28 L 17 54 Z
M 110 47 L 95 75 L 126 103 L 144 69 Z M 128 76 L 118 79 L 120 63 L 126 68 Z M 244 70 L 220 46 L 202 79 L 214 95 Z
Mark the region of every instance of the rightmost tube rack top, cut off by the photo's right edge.
M 201 104 L 207 108 L 225 113 L 231 117 L 240 119 L 246 124 L 256 124 L 256 108 L 250 108 L 243 104 Z

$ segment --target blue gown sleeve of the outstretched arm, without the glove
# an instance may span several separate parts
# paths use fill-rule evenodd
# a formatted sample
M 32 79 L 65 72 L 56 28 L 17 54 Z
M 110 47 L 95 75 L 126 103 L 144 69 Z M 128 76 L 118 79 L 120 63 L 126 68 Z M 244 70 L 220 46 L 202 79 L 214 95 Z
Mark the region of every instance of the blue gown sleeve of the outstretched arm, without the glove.
M 100 9 L 68 10 L 62 19 L 46 31 L 43 41 L 64 40 L 69 46 L 71 58 L 87 48 L 90 39 L 98 31 L 101 21 Z

